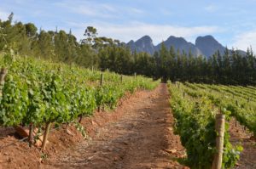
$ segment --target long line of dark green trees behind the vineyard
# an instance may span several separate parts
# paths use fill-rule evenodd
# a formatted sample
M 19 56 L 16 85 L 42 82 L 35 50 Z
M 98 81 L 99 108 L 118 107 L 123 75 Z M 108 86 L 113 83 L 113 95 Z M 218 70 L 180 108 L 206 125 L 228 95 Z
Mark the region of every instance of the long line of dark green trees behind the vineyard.
M 131 51 L 125 43 L 97 37 L 96 28 L 88 26 L 84 39 L 78 41 L 72 31 L 44 31 L 32 23 L 0 20 L 0 52 L 12 48 L 21 56 L 33 56 L 85 68 L 110 70 L 120 74 L 150 76 L 172 82 L 203 82 L 232 85 L 255 85 L 256 59 L 251 48 L 246 55 L 226 48 L 211 57 L 194 56 L 161 45 L 153 56 Z

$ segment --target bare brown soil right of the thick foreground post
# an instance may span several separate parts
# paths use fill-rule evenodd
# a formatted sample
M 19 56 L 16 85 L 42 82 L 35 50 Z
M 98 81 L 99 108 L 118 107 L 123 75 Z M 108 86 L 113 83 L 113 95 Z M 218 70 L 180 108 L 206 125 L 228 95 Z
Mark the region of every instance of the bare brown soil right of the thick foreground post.
M 232 118 L 230 121 L 230 141 L 232 144 L 240 144 L 243 147 L 240 161 L 236 169 L 256 168 L 256 140 L 252 138 L 253 133 L 244 130 L 244 127 Z

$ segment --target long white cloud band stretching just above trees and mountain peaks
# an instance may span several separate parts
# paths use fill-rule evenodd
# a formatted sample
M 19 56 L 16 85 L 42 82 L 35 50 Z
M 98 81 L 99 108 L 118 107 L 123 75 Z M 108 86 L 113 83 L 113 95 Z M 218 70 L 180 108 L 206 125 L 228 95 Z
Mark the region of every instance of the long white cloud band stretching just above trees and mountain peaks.
M 133 22 L 125 25 L 113 25 L 108 23 L 90 23 L 86 25 L 68 23 L 74 27 L 73 33 L 78 38 L 83 38 L 83 33 L 88 25 L 93 25 L 98 31 L 100 37 L 112 37 L 122 42 L 129 42 L 131 39 L 137 40 L 144 35 L 148 35 L 153 39 L 154 44 L 158 44 L 166 38 L 172 36 L 184 37 L 187 40 L 193 40 L 196 36 L 203 36 L 223 31 L 218 26 L 194 26 L 183 27 L 177 25 L 153 25 L 141 22 Z

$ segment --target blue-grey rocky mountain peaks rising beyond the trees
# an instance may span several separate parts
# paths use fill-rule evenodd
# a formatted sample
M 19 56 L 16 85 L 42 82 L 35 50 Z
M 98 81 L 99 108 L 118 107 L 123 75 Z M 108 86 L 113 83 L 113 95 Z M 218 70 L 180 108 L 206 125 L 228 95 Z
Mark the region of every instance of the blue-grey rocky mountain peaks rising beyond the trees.
M 172 46 L 177 50 L 184 51 L 189 54 L 189 51 L 195 56 L 203 55 L 206 57 L 212 56 L 216 51 L 220 54 L 224 54 L 225 47 L 220 44 L 214 37 L 207 35 L 205 37 L 197 37 L 195 44 L 192 42 L 187 42 L 183 37 L 168 37 L 166 41 L 163 41 L 166 48 L 171 48 Z M 154 54 L 155 51 L 159 51 L 161 47 L 161 42 L 154 46 L 151 37 L 144 36 L 138 39 L 136 42 L 131 40 L 126 43 L 131 51 L 146 52 L 148 54 Z M 246 52 L 242 50 L 237 50 L 240 54 L 245 55 Z

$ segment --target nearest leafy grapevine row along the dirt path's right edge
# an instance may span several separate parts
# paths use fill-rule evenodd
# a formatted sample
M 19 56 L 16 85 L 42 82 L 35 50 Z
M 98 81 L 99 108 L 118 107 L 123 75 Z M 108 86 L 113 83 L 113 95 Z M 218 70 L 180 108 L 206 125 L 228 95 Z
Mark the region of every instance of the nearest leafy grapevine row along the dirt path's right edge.
M 190 85 L 190 84 L 189 84 Z M 187 150 L 187 162 L 191 168 L 211 168 L 216 153 L 215 115 L 220 111 L 206 94 L 196 91 L 188 84 L 169 84 L 172 94 L 171 106 L 176 118 L 175 131 L 181 137 Z M 192 89 L 193 88 L 193 89 Z M 189 95 L 189 96 L 187 96 Z M 221 110 L 229 120 L 229 114 Z M 229 141 L 228 123 L 224 132 L 223 168 L 235 166 L 241 152 L 240 146 L 232 146 Z

